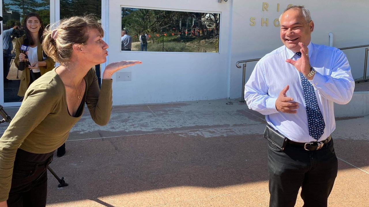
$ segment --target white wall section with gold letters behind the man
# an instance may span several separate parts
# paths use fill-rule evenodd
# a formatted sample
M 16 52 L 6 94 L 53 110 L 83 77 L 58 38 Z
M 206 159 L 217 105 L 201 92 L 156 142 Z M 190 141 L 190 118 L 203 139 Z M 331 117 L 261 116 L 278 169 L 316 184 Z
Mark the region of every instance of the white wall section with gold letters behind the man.
M 269 4 L 268 11 L 262 10 L 263 2 Z M 289 4 L 304 5 L 310 10 L 315 24 L 312 42 L 328 45 L 328 33 L 333 32 L 334 46 L 337 48 L 369 44 L 369 24 L 365 15 L 369 10 L 367 0 L 233 0 L 230 98 L 241 97 L 242 69 L 238 69 L 235 63 L 239 60 L 261 58 L 282 46 L 279 27 L 275 27 L 273 21 L 279 18 Z M 255 17 L 255 26 L 250 25 L 251 17 Z M 268 18 L 268 27 L 265 24 L 261 26 L 262 18 Z M 350 62 L 353 77 L 362 77 L 365 48 L 344 52 Z M 246 80 L 255 64 L 247 64 Z

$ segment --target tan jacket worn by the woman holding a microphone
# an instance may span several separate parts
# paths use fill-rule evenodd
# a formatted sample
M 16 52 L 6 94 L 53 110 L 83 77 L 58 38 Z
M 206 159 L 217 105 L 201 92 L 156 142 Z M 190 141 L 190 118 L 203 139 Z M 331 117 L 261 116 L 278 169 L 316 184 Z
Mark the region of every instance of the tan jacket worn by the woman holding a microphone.
M 25 35 L 21 36 L 20 38 L 17 39 L 17 41 L 15 41 L 15 66 L 19 66 L 19 54 L 21 53 L 21 45 L 24 42 L 24 39 L 26 38 Z M 42 57 L 42 46 L 41 46 L 41 42 L 38 43 L 37 45 L 37 57 L 38 57 L 38 61 L 45 61 L 46 62 L 46 66 L 39 66 L 40 68 L 40 72 L 41 72 L 41 76 L 43 74 L 45 74 L 48 71 L 51 71 L 54 68 L 55 62 L 54 60 L 52 60 L 50 57 L 47 57 L 45 60 Z M 22 76 L 21 76 L 21 83 L 19 85 L 19 90 L 18 90 L 18 96 L 24 97 L 25 91 L 27 91 L 28 85 L 30 85 L 30 69 L 27 67 L 25 70 L 22 71 Z

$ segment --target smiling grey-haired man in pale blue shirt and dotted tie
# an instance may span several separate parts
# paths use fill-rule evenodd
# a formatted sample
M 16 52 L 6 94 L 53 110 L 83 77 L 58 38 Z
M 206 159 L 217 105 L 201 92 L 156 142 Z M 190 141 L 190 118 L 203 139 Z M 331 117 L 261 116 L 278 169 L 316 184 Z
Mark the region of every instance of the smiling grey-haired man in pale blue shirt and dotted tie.
M 293 207 L 302 187 L 304 207 L 327 207 L 338 168 L 333 104 L 351 100 L 351 68 L 341 50 L 311 42 L 307 8 L 287 8 L 280 25 L 284 46 L 265 55 L 245 85 L 248 107 L 288 138 L 284 149 L 268 142 L 269 206 Z

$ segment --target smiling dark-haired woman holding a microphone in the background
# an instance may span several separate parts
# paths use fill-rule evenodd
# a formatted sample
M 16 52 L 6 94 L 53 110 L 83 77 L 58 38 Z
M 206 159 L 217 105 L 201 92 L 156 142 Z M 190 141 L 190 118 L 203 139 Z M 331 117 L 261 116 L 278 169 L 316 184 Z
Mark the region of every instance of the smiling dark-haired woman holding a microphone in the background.
M 37 78 L 54 68 L 54 60 L 47 57 L 42 49 L 44 25 L 41 17 L 30 13 L 24 18 L 25 35 L 15 42 L 15 66 L 22 71 L 18 96 L 23 97 L 28 86 Z M 28 52 L 21 52 L 21 45 L 30 46 Z M 27 64 L 29 61 L 29 64 Z M 21 64 L 21 62 L 24 62 Z M 20 67 L 21 66 L 21 67 Z

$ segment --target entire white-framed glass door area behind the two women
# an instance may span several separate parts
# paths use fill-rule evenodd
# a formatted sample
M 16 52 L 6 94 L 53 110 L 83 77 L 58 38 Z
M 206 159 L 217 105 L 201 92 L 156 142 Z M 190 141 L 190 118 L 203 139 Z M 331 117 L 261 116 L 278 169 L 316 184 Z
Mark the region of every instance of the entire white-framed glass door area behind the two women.
M 105 0 L 103 0 L 105 2 Z M 75 15 L 94 14 L 101 22 L 101 0 L 2 0 L 2 32 L 0 43 L 3 56 L 3 70 L 0 71 L 0 104 L 3 106 L 20 106 L 23 100 L 18 91 L 23 71 L 15 66 L 15 42 L 25 34 L 23 18 L 33 12 L 40 15 L 44 26 L 60 19 Z M 58 63 L 56 63 L 58 64 Z M 96 66 L 100 77 L 100 66 Z M 100 79 L 100 78 L 99 78 Z M 100 82 L 100 80 L 99 80 Z

